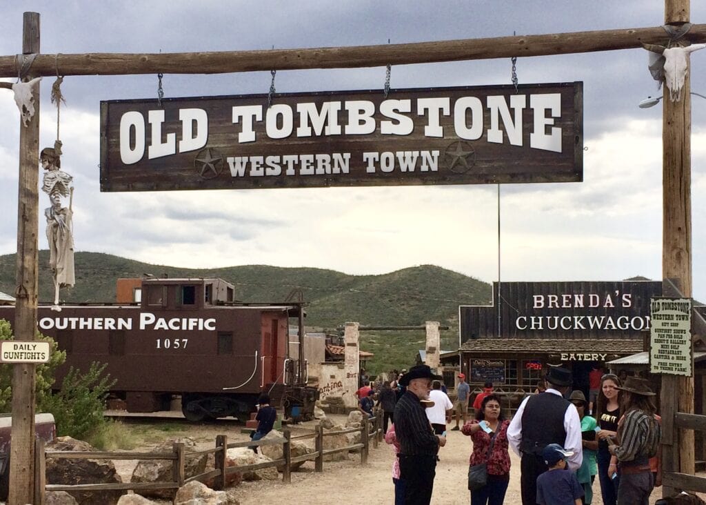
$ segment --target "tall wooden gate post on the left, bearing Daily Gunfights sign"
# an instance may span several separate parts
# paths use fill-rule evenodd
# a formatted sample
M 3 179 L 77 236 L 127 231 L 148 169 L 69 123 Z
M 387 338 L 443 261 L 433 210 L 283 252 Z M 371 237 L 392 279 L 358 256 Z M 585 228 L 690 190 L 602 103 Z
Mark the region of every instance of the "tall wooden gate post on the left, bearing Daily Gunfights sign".
M 23 16 L 23 54 L 40 52 L 40 15 Z M 32 70 L 25 81 L 32 78 Z M 40 92 L 35 88 L 35 115 L 20 119 L 20 177 L 17 212 L 17 290 L 15 340 L 34 340 L 37 331 L 37 219 L 39 207 Z M 12 448 L 9 505 L 35 503 L 35 364 L 12 365 Z

